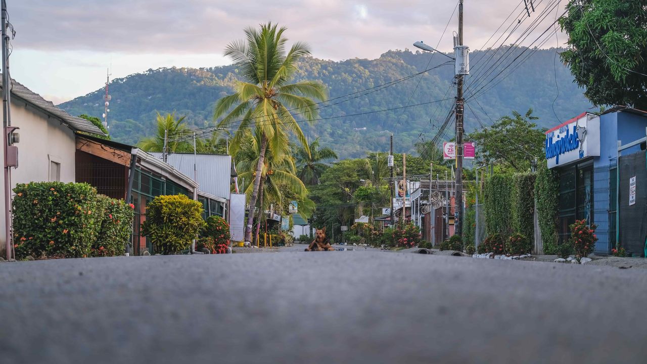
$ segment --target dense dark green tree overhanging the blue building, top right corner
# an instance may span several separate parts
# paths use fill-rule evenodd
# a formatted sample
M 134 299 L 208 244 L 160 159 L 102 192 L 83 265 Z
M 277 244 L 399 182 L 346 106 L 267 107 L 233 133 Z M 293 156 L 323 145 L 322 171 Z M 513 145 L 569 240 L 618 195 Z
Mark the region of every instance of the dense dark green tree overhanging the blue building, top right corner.
M 562 52 L 593 104 L 647 109 L 647 7 L 644 0 L 571 0 L 560 19 Z

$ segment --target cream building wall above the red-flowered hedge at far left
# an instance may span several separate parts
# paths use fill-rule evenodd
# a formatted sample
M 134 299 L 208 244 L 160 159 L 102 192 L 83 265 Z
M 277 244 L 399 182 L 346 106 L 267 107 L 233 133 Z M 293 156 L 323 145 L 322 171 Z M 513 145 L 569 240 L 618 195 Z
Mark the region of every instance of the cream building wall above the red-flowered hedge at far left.
M 1 108 L 1 106 L 0 106 Z M 0 120 L 3 115 L 0 112 Z M 20 129 L 18 168 L 11 170 L 12 189 L 17 183 L 43 182 L 50 180 L 50 163 L 60 164 L 60 181 L 74 182 L 76 178 L 74 157 L 76 140 L 74 131 L 54 118 L 49 118 L 25 102 L 14 99 L 11 103 L 11 124 Z M 1 137 L 1 135 L 0 135 Z M 1 145 L 1 144 L 0 144 Z M 0 148 L 0 161 L 4 161 Z M 0 174 L 0 186 L 4 186 L 4 171 Z M 3 187 L 4 188 L 4 187 Z M 12 192 L 13 195 L 13 192 Z M 5 251 L 5 194 L 0 191 L 0 251 Z M 1 256 L 4 256 L 3 253 Z

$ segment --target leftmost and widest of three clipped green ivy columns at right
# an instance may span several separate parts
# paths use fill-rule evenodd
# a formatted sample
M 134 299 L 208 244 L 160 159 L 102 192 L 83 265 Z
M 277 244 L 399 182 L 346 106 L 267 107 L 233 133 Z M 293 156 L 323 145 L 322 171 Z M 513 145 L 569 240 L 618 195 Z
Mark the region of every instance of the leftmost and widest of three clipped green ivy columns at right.
M 509 174 L 494 174 L 485 181 L 485 228 L 488 234 L 512 233 L 512 189 Z

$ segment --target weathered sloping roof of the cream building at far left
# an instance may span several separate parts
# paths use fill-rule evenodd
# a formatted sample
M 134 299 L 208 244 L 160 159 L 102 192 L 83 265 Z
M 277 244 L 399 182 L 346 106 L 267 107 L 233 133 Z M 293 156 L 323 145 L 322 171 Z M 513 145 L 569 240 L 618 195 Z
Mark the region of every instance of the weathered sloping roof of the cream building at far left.
M 0 78 L 0 88 L 2 87 L 2 80 Z M 49 115 L 52 115 L 56 119 L 59 119 L 61 122 L 63 122 L 63 124 L 66 124 L 74 131 L 85 131 L 87 133 L 105 135 L 103 131 L 97 128 L 92 122 L 89 122 L 89 120 L 85 120 L 80 117 L 73 117 L 57 106 L 54 106 L 51 101 L 45 100 L 41 97 L 41 95 L 38 95 L 38 93 L 31 91 L 30 89 L 13 79 L 11 93 L 12 97 L 17 97 L 21 100 L 25 100 L 25 102 L 28 102 L 34 107 L 41 109 L 42 111 Z

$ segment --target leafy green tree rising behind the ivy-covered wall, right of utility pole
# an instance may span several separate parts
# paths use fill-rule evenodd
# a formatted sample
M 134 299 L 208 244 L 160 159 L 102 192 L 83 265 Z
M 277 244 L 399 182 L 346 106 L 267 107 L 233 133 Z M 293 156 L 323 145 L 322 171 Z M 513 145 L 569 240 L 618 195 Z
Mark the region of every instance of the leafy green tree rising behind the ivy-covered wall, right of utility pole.
M 516 171 L 528 170 L 535 157 L 542 158 L 545 130 L 538 129 L 532 109 L 521 115 L 512 111 L 490 126 L 468 135 L 476 142 L 477 161 L 481 165 L 498 163 Z

